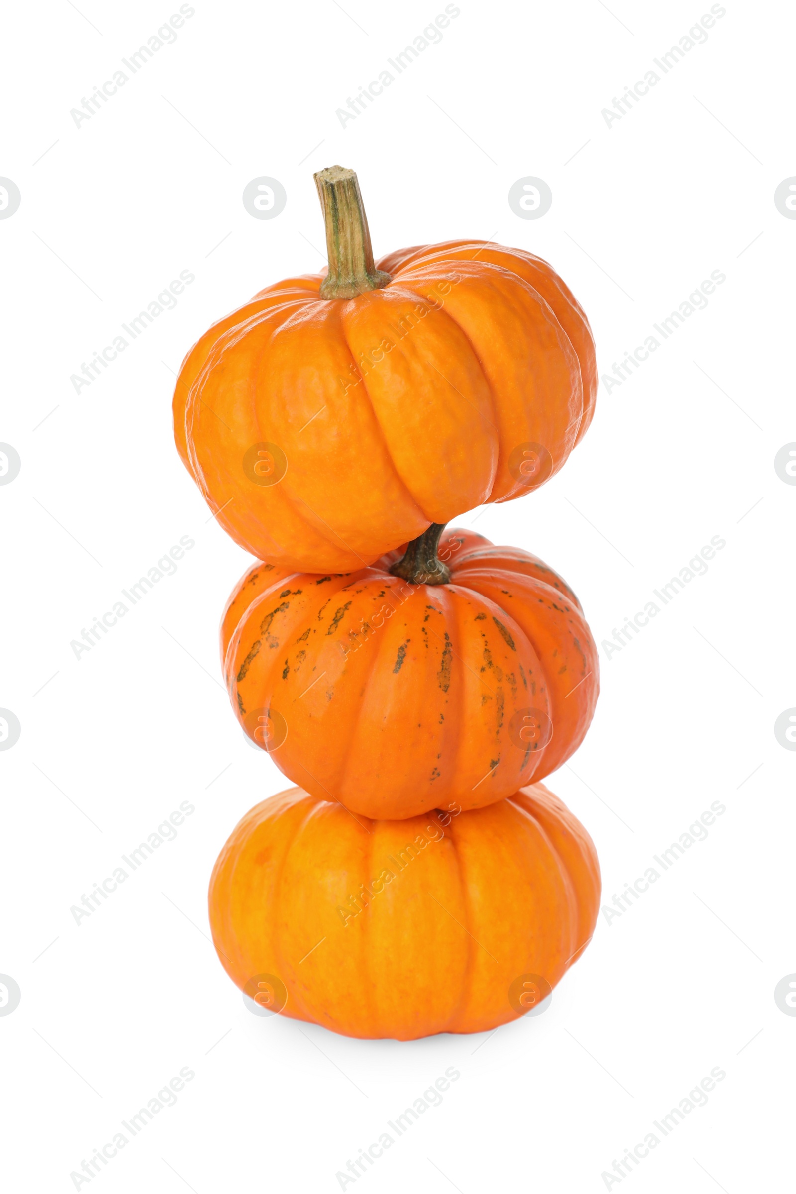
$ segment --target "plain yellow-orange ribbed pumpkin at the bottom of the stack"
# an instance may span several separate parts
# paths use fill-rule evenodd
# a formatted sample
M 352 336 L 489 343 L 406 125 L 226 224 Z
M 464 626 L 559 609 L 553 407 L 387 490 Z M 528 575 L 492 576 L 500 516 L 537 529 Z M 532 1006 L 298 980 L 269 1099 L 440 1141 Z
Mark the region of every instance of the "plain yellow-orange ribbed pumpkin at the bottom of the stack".
M 588 833 L 541 783 L 446 826 L 437 813 L 354 819 L 291 788 L 252 808 L 221 851 L 210 925 L 237 986 L 284 984 L 283 1015 L 414 1040 L 519 1018 L 511 984 L 555 986 L 592 936 L 599 896 Z

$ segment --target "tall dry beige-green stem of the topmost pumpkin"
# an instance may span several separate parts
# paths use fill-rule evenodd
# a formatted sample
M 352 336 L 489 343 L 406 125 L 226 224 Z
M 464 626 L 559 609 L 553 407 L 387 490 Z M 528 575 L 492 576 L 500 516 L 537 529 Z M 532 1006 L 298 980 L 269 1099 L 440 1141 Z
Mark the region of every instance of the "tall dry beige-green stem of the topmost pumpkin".
M 357 176 L 344 166 L 327 166 L 313 176 L 323 209 L 329 272 L 321 282 L 322 298 L 356 298 L 390 281 L 377 270 L 365 205 Z

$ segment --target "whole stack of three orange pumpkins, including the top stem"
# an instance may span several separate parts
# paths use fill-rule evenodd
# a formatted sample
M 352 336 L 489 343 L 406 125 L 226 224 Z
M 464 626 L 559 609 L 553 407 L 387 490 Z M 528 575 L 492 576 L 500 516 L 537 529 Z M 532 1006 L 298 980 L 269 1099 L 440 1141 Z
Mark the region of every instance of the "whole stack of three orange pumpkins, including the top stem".
M 301 787 L 224 845 L 210 922 L 264 1013 L 401 1040 L 539 1008 L 588 943 L 591 838 L 538 781 L 598 694 L 550 567 L 446 523 L 557 472 L 597 389 L 584 312 L 483 241 L 374 261 L 353 171 L 315 176 L 329 265 L 215 324 L 183 461 L 259 561 L 223 615 L 233 709 Z

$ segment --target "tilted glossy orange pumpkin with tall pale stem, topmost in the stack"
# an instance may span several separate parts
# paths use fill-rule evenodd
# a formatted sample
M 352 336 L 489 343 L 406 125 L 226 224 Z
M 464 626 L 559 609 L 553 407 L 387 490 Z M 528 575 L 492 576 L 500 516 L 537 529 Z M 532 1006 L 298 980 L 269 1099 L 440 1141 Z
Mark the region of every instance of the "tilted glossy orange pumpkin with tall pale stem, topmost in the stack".
M 315 176 L 329 267 L 193 345 L 174 439 L 259 559 L 346 572 L 556 473 L 597 393 L 588 321 L 541 258 L 485 241 L 374 263 L 357 176 Z

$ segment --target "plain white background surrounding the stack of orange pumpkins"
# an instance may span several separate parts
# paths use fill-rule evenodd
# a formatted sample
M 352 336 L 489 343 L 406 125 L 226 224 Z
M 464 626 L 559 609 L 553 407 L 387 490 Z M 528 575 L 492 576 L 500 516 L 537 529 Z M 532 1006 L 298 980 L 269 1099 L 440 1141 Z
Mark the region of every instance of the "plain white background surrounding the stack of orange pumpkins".
M 780 1188 L 796 1018 L 773 989 L 796 971 L 796 755 L 773 722 L 796 706 L 796 487 L 773 457 L 796 441 L 796 221 L 773 191 L 796 174 L 792 8 L 728 2 L 609 128 L 601 110 L 709 4 L 463 0 L 341 128 L 335 109 L 442 4 L 197 0 L 174 44 L 76 128 L 69 110 L 178 8 L 79 7 L 8 8 L 0 82 L 0 174 L 21 191 L 0 221 L 0 439 L 21 457 L 0 487 L 0 706 L 21 724 L 0 753 L 0 972 L 21 990 L 0 1017 L 5 1186 L 73 1189 L 81 1159 L 189 1066 L 177 1106 L 92 1190 L 333 1192 L 452 1065 L 443 1104 L 357 1190 L 605 1189 L 613 1158 L 715 1066 L 708 1106 L 617 1184 Z M 258 1018 L 208 940 L 221 845 L 288 783 L 221 683 L 218 618 L 248 558 L 178 460 L 174 371 L 212 320 L 320 269 L 311 174 L 338 162 L 359 174 L 377 254 L 471 236 L 549 259 L 588 313 L 601 375 L 726 273 L 631 380 L 600 386 L 560 475 L 459 519 L 556 567 L 598 642 L 712 536 L 727 544 L 630 645 L 601 650 L 592 728 L 548 781 L 594 838 L 606 904 L 712 801 L 726 813 L 629 911 L 600 917 L 544 1015 L 489 1038 L 353 1041 Z M 286 190 L 278 219 L 243 209 L 258 176 Z M 508 207 L 525 176 L 553 191 L 538 221 Z M 70 375 L 181 270 L 195 282 L 175 309 L 76 394 Z M 177 573 L 75 659 L 70 640 L 184 535 L 196 546 Z M 76 925 L 70 906 L 184 800 L 177 839 Z

